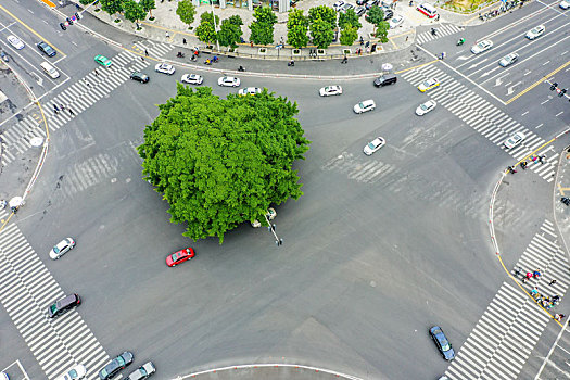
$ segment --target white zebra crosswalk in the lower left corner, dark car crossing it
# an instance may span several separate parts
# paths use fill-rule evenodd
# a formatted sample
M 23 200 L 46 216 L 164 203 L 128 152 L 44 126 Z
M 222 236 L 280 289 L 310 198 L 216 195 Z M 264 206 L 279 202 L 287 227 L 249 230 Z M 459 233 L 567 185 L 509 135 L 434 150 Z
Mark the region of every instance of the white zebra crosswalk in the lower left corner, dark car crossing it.
M 4 211 L 0 218 L 7 218 Z M 0 303 L 20 331 L 48 379 L 76 364 L 87 367 L 87 379 L 110 359 L 78 311 L 58 318 L 46 309 L 65 295 L 26 238 L 14 225 L 0 235 Z

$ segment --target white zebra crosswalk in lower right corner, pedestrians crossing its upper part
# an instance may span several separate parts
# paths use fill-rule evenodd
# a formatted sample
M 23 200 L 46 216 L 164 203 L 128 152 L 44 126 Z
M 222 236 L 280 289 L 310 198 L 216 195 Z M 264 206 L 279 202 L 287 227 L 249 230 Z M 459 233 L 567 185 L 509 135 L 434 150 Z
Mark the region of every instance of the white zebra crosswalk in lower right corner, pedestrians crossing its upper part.
M 542 270 L 542 277 L 518 283 L 528 293 L 539 287 L 541 291 L 548 292 L 543 294 L 545 296 L 565 295 L 570 283 L 568 259 L 558 245 L 553 223 L 545 220 L 542 224 L 515 267 Z M 553 279 L 557 281 L 549 286 Z M 445 371 L 449 379 L 519 378 L 552 317 L 518 286 L 510 279 L 502 284 Z

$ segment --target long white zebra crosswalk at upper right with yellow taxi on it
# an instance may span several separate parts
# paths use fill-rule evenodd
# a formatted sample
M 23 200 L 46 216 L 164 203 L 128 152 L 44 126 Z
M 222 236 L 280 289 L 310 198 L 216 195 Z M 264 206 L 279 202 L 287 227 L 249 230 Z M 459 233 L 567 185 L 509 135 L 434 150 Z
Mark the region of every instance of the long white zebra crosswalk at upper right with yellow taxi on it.
M 415 87 L 428 78 L 438 78 L 441 85 L 426 93 L 434 99 L 439 105 L 447 109 L 517 161 L 529 157 L 545 143 L 543 138 L 512 119 L 509 115 L 468 89 L 465 85 L 445 74 L 445 72 L 436 65 L 414 68 L 403 73 L 402 77 Z M 507 149 L 503 142 L 516 131 L 522 131 L 525 140 L 515 148 Z M 547 182 L 552 182 L 554 180 L 558 154 L 559 153 L 553 150 L 552 154 L 548 154 L 548 157 L 544 160 L 543 163 L 529 160 L 528 168 L 536 173 Z

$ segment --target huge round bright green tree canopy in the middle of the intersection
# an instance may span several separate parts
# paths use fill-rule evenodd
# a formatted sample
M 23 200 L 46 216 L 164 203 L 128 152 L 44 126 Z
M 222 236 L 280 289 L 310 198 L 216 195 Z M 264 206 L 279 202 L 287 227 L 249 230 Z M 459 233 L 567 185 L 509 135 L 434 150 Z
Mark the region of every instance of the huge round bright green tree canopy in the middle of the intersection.
M 221 244 L 225 232 L 303 194 L 291 166 L 309 141 L 293 117 L 296 103 L 267 90 L 219 99 L 178 84 L 159 109 L 138 148 L 142 175 L 169 203 L 170 221 L 188 224 L 183 236 Z

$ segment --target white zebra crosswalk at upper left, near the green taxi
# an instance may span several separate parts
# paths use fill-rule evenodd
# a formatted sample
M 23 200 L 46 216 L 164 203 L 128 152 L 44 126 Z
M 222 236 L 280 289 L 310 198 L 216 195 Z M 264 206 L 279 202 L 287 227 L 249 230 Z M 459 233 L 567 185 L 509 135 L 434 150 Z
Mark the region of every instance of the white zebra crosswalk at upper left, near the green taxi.
M 136 42 L 134 48 L 139 51 L 149 51 L 152 56 L 163 56 L 174 47 L 169 43 L 144 41 Z M 141 60 L 140 55 L 124 50 L 113 56 L 111 67 L 98 67 L 88 73 L 83 78 L 76 80 L 72 86 L 60 92 L 58 96 L 46 101 L 45 113 L 50 131 L 55 131 L 67 124 L 72 118 L 77 117 L 81 112 L 89 109 L 98 100 L 109 96 L 113 90 L 123 85 L 132 72 L 142 71 L 149 66 L 149 61 Z M 60 110 L 54 112 L 53 106 Z M 30 140 L 34 137 L 46 138 L 46 130 L 42 121 L 35 115 L 21 118 L 0 134 L 0 141 L 3 143 L 2 156 L 0 162 L 8 165 L 18 155 L 25 153 L 30 148 Z

